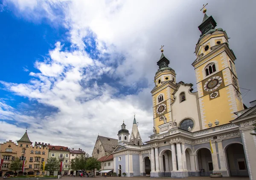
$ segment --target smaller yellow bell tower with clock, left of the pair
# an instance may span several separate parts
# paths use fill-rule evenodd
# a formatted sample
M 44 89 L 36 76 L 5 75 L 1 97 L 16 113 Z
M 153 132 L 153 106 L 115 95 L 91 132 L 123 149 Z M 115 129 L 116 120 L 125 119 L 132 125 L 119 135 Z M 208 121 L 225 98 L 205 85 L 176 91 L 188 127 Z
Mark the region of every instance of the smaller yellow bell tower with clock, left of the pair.
M 163 47 L 163 46 L 162 46 Z M 155 87 L 151 90 L 153 101 L 154 129 L 159 133 L 159 125 L 173 122 L 171 115 L 171 104 L 174 102 L 172 93 L 177 88 L 176 73 L 169 67 L 170 61 L 163 54 L 157 62 L 159 69 L 154 77 Z

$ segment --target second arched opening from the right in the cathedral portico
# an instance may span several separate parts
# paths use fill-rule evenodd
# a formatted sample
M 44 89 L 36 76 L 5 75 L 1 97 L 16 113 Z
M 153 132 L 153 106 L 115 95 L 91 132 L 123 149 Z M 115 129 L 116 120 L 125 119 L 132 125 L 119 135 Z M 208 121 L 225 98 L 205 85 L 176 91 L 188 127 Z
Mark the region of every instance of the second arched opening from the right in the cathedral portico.
M 198 169 L 201 176 L 209 176 L 212 174 L 212 154 L 208 148 L 201 148 L 197 151 Z

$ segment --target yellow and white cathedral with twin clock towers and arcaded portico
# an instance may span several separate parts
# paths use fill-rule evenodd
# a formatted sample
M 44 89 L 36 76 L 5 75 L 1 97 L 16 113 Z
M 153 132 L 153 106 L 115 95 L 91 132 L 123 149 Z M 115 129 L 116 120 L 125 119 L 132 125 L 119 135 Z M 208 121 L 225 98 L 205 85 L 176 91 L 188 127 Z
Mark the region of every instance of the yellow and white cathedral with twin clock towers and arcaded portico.
M 192 63 L 197 92 L 192 92 L 193 84 L 177 82 L 162 49 L 151 91 L 153 134 L 143 143 L 135 116 L 131 134 L 123 123 L 109 152 L 113 172 L 128 177 L 216 173 L 256 179 L 256 136 L 251 135 L 256 101 L 244 106 L 228 35 L 205 12 Z

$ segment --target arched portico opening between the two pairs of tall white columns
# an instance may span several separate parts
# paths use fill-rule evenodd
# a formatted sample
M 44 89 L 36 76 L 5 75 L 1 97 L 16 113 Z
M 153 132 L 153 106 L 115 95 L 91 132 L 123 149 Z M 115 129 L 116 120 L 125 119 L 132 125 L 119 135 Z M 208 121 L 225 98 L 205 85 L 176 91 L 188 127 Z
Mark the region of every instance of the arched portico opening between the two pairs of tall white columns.
M 161 176 L 171 177 L 172 171 L 172 151 L 166 149 L 159 154 Z

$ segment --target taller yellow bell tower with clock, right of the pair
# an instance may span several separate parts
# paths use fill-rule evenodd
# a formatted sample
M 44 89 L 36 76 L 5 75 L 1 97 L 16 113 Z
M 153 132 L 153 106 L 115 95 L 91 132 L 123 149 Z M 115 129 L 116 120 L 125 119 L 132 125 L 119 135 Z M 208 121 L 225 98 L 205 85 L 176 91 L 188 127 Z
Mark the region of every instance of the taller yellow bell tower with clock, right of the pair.
M 200 38 L 195 47 L 195 67 L 198 99 L 201 110 L 203 129 L 214 125 L 230 123 L 243 110 L 243 102 L 236 74 L 236 56 L 229 47 L 227 33 L 222 28 L 215 28 L 217 23 L 212 16 L 204 18 L 198 29 Z

